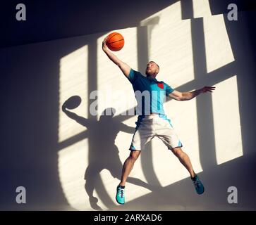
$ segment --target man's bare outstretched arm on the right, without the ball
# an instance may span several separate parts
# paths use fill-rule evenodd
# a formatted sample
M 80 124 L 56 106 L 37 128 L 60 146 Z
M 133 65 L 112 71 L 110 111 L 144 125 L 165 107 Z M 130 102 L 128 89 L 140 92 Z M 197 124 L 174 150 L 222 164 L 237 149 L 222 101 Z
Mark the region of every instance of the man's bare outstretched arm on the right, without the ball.
M 174 98 L 177 101 L 188 101 L 192 98 L 195 98 L 199 94 L 206 93 L 207 91 L 212 92 L 214 90 L 215 90 L 215 86 L 204 86 L 202 89 L 198 89 L 190 92 L 180 92 L 180 91 L 174 90 L 168 96 L 171 98 Z

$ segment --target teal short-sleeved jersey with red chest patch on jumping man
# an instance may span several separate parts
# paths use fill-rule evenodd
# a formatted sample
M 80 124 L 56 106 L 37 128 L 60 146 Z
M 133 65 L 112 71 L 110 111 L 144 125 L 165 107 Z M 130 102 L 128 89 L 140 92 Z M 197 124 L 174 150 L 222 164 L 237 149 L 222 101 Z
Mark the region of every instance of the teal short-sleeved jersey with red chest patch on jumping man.
M 165 115 L 163 104 L 174 89 L 164 82 L 143 76 L 140 72 L 130 69 L 128 80 L 133 84 L 137 100 L 137 115 L 150 115 L 158 113 Z

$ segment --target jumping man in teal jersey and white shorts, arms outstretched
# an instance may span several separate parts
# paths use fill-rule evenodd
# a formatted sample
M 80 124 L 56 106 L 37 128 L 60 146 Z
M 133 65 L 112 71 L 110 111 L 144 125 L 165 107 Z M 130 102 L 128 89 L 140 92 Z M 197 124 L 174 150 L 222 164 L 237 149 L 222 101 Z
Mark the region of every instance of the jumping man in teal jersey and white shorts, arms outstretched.
M 154 63 L 153 61 L 147 63 L 147 68 L 145 71 L 147 77 L 145 77 L 140 72 L 131 69 L 129 65 L 123 63 L 114 55 L 114 53 L 109 51 L 106 47 L 106 39 L 107 37 L 104 39 L 104 41 L 102 41 L 102 50 L 104 53 L 106 53 L 106 56 L 108 56 L 111 61 L 118 65 L 123 74 L 128 78 L 130 83 L 133 85 L 135 94 L 138 92 L 142 93 L 147 91 L 150 96 L 150 101 L 146 101 L 144 98 L 144 101 L 142 100 L 140 105 L 141 107 L 139 108 L 140 112 L 138 122 L 136 122 L 137 127 L 130 145 L 130 156 L 123 164 L 121 182 L 116 188 L 117 203 L 125 203 L 124 189 L 126 179 L 128 178 L 130 171 L 133 169 L 133 165 L 138 159 L 140 151 L 143 150 L 145 144 L 153 139 L 154 136 L 161 139 L 167 148 L 170 149 L 174 155 L 176 155 L 182 165 L 188 169 L 196 192 L 198 194 L 204 193 L 205 188 L 197 174 L 195 174 L 190 162 L 190 158 L 181 149 L 182 143 L 178 139 L 178 136 L 171 125 L 171 120 L 169 120 L 164 114 L 163 103 L 165 96 L 174 98 L 177 101 L 188 101 L 195 98 L 195 96 L 198 96 L 199 94 L 206 93 L 207 91 L 212 92 L 215 87 L 205 86 L 202 89 L 191 92 L 176 91 L 168 84 L 157 81 L 156 76 L 159 73 L 159 65 L 157 65 L 157 63 Z

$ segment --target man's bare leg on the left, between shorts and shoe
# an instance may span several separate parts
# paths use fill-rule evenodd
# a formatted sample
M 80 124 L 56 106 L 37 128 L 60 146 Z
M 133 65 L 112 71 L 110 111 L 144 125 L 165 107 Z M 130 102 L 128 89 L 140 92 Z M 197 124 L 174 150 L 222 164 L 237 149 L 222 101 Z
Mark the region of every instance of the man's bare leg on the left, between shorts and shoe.
M 135 161 L 138 159 L 140 155 L 140 150 L 131 150 L 129 157 L 126 159 L 126 162 L 123 164 L 121 182 L 119 185 L 126 186 L 126 180 L 133 169 L 133 165 Z

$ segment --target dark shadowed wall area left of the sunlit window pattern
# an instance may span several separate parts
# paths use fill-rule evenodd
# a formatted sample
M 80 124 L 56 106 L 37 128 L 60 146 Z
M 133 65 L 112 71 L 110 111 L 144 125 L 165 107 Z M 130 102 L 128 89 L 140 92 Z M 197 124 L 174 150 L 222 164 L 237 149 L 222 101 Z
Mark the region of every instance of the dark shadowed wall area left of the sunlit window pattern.
M 7 106 L 1 115 L 2 210 L 74 210 L 61 188 L 57 154 L 59 60 L 85 45 L 74 40 L 1 49 Z M 16 203 L 17 186 L 25 186 L 27 204 Z

